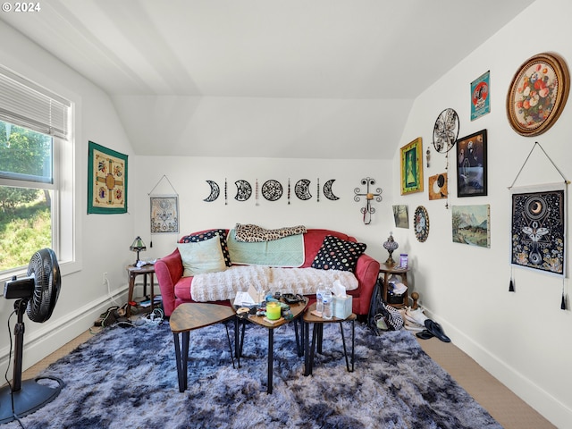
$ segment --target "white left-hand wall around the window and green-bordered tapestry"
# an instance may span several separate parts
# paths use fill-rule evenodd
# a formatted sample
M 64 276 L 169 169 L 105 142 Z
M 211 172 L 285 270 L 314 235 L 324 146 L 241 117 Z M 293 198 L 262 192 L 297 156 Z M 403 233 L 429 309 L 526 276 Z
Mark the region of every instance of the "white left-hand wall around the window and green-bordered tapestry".
M 62 290 L 54 315 L 45 324 L 35 324 L 24 317 L 26 325 L 24 368 L 75 338 L 93 325 L 103 309 L 110 306 L 108 288 L 102 285 L 102 273 L 107 272 L 112 293 L 127 285 L 125 266 L 133 254 L 129 246 L 133 240 L 132 214 L 87 215 L 88 140 L 130 155 L 132 149 L 117 118 L 109 97 L 77 72 L 63 65 L 20 33 L 2 23 L 0 25 L 0 63 L 21 73 L 30 80 L 49 88 L 76 105 L 75 161 L 76 161 L 76 221 L 78 263 L 69 273 L 62 266 Z M 129 196 L 129 206 L 133 199 Z M 30 255 L 31 257 L 31 255 Z M 0 372 L 8 363 L 10 339 L 5 329 L 13 300 L 0 299 Z M 12 322 L 15 322 L 13 317 Z

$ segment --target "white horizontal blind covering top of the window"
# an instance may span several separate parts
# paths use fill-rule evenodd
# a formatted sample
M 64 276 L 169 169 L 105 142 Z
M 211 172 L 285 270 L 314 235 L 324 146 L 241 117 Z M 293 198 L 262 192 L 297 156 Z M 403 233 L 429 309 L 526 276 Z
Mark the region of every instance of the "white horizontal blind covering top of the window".
M 0 119 L 69 139 L 71 103 L 0 66 Z

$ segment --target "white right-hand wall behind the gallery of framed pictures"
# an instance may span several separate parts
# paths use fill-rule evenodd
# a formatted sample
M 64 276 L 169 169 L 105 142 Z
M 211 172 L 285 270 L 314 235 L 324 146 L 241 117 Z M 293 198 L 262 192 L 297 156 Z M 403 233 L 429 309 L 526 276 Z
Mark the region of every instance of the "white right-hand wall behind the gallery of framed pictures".
M 399 151 L 393 161 L 392 185 L 393 194 L 398 196 L 394 202 L 407 204 L 410 212 L 416 206 L 425 206 L 429 213 L 431 228 L 424 243 L 416 241 L 412 230 L 398 229 L 394 234 L 396 240 L 411 245 L 415 289 L 421 294 L 422 304 L 458 347 L 562 428 L 572 427 L 572 303 L 568 279 L 563 282 L 551 275 L 515 268 L 516 292 L 509 293 L 508 187 L 535 141 L 564 176 L 572 179 L 572 101 L 568 99 L 551 130 L 526 138 L 510 128 L 505 100 L 510 80 L 527 58 L 553 51 L 572 63 L 571 13 L 572 5 L 567 0 L 538 0 L 428 88 L 416 99 L 409 115 L 401 146 L 421 136 L 424 154 L 427 147 L 432 149 L 431 166 L 425 169 L 425 189 L 428 176 L 445 171 L 446 158 L 432 145 L 433 123 L 442 109 L 452 107 L 458 112 L 459 138 L 478 130 L 488 131 L 488 196 L 457 198 L 456 173 L 451 167 L 449 204 L 491 205 L 491 248 L 453 243 L 450 210 L 443 200 L 429 201 L 426 191 L 400 196 Z M 471 122 L 470 82 L 487 70 L 491 71 L 491 113 Z M 563 179 L 536 147 L 516 186 L 556 181 Z M 567 257 L 567 265 L 568 261 Z M 567 311 L 560 309 L 563 283 Z

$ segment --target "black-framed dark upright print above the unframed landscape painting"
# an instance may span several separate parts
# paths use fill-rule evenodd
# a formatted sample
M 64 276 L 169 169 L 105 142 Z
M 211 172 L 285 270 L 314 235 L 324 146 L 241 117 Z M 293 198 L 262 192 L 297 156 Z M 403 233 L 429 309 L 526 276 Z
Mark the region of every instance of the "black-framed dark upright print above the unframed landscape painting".
M 487 195 L 486 130 L 457 140 L 457 196 Z

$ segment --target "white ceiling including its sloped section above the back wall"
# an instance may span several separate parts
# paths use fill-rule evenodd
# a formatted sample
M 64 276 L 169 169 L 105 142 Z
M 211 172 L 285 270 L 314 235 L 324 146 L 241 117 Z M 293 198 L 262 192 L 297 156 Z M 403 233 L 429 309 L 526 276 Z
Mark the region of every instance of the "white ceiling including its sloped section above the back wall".
M 383 159 L 415 97 L 533 1 L 43 0 L 0 20 L 104 88 L 138 155 Z

